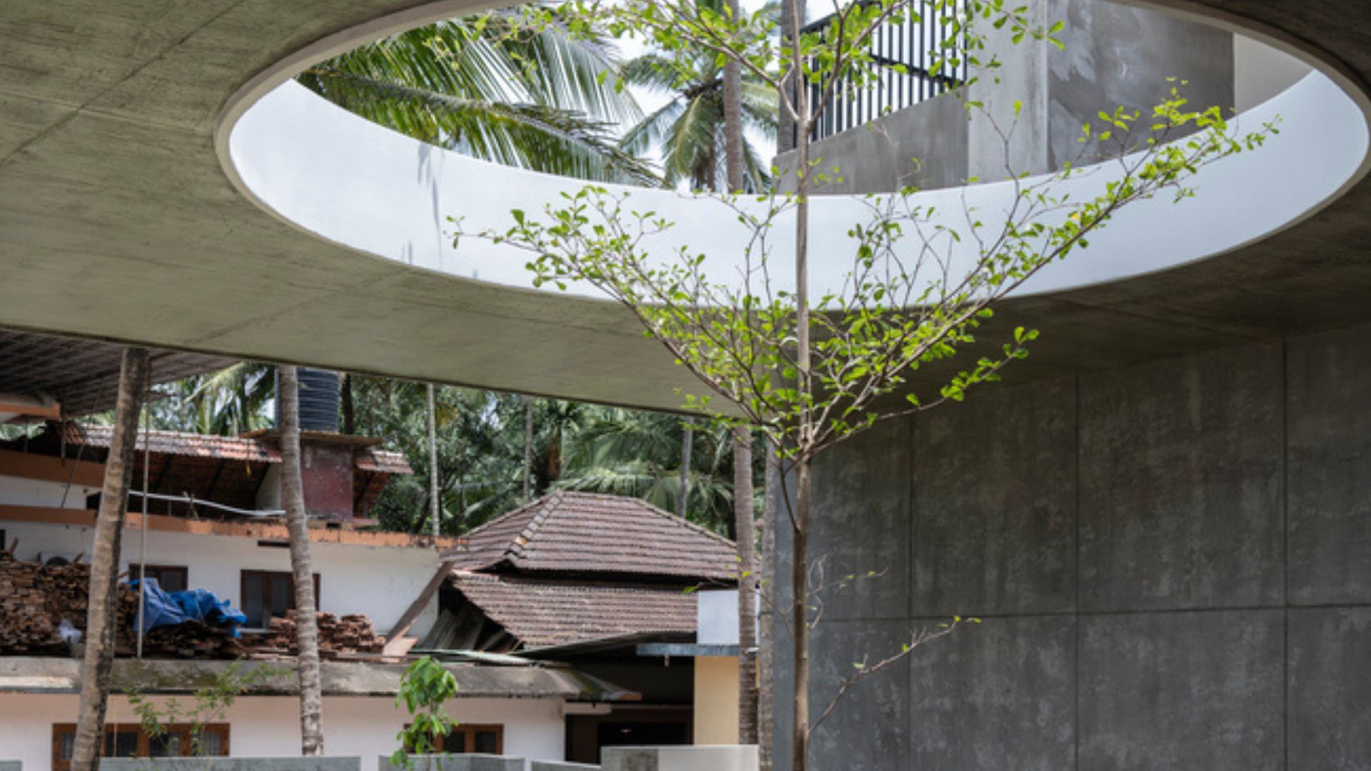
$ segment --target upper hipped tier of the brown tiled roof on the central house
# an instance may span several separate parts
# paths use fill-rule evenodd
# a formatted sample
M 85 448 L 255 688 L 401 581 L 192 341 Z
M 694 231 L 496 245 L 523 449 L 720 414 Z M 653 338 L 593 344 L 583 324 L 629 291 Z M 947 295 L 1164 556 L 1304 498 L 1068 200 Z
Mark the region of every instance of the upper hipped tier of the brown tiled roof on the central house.
M 466 534 L 454 568 L 738 578 L 732 541 L 620 495 L 558 491 Z

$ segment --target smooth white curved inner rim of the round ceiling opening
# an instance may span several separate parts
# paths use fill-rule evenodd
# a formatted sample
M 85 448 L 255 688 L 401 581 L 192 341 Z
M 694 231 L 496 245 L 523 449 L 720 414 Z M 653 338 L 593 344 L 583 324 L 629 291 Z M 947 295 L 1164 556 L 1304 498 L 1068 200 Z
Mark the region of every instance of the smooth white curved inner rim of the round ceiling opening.
M 428 11 L 435 15 L 433 8 Z M 447 8 L 448 14 L 455 11 Z M 409 26 L 421 21 L 409 19 Z M 358 32 L 352 44 L 383 32 Z M 535 215 L 583 182 L 474 161 L 411 140 L 285 80 L 307 60 L 340 48 L 347 47 L 335 41 L 332 51 L 315 47 L 313 55 L 302 52 L 273 74 L 263 74 L 230 103 L 218 132 L 221 162 L 229 177 L 259 206 L 344 247 L 465 280 L 532 288 L 524 252 L 477 239 L 463 239 L 454 250 L 448 218 L 463 218 L 468 230 L 506 228 L 511 210 Z M 1049 266 L 1020 294 L 1116 281 L 1211 258 L 1285 229 L 1334 200 L 1366 174 L 1371 133 L 1364 95 L 1333 74 L 1341 86 L 1315 70 L 1242 114 L 1238 123 L 1243 130 L 1279 115 L 1281 133 L 1254 152 L 1201 170 L 1193 182 L 1194 198 L 1172 203 L 1167 196 L 1132 204 L 1091 239 L 1089 250 Z M 273 81 L 285 82 L 270 88 Z M 1113 171 L 1105 166 L 1057 189 L 1079 200 L 1095 195 L 1111 178 Z M 739 274 L 740 244 L 750 232 L 723 202 L 670 191 L 609 188 L 629 193 L 633 210 L 655 211 L 676 224 L 644 241 L 653 254 L 669 258 L 684 246 L 707 257 L 710 276 Z M 965 233 L 964 207 L 993 220 L 993 213 L 1005 210 L 1012 199 L 1013 188 L 1001 182 L 920 192 L 914 203 L 936 207 L 941 221 Z M 747 206 L 760 210 L 762 204 Z M 865 221 L 868 206 L 858 196 L 813 200 L 813 292 L 842 285 L 853 251 L 846 233 L 854 222 Z M 788 254 L 792 243 L 792 226 L 779 222 L 771 233 L 775 254 Z M 916 248 L 916 240 L 906 239 L 905 247 Z M 953 258 L 965 263 L 973 257 L 968 239 Z M 787 270 L 775 273 L 788 276 Z M 572 287 L 570 292 L 602 298 L 592 287 Z

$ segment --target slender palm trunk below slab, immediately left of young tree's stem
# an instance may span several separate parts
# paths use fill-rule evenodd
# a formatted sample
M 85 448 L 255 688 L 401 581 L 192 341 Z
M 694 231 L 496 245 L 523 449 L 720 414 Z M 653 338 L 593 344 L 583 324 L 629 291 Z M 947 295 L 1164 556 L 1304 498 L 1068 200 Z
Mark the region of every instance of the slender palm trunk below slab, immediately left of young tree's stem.
M 753 551 L 753 435 L 733 429 L 733 519 L 738 525 L 738 741 L 757 744 L 757 567 Z

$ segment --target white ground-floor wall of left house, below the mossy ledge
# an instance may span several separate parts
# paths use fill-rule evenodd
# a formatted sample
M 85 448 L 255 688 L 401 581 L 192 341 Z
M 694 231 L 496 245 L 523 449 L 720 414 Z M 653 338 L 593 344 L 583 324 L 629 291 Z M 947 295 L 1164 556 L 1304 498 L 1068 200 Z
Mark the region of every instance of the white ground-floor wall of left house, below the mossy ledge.
M 52 724 L 73 723 L 75 696 L 0 694 L 0 760 L 22 760 L 25 771 L 51 771 Z M 165 704 L 165 700 L 155 700 Z M 188 702 L 181 698 L 182 705 Z M 299 756 L 299 702 L 292 697 L 240 698 L 226 713 L 234 757 Z M 447 705 L 458 723 L 505 726 L 505 753 L 531 760 L 562 760 L 562 701 L 550 698 L 457 698 Z M 376 771 L 380 755 L 395 752 L 406 713 L 383 697 L 324 700 L 328 755 L 361 756 L 362 771 Z M 128 700 L 110 700 L 108 723 L 137 723 Z

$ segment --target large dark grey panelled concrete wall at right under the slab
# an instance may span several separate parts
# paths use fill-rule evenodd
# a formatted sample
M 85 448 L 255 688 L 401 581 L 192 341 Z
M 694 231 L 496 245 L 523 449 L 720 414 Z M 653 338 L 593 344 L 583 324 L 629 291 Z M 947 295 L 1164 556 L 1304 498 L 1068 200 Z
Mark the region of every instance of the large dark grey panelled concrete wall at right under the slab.
M 999 386 L 827 455 L 810 556 L 882 575 L 825 598 L 816 712 L 983 623 L 854 689 L 816 767 L 1371 768 L 1368 337 Z

